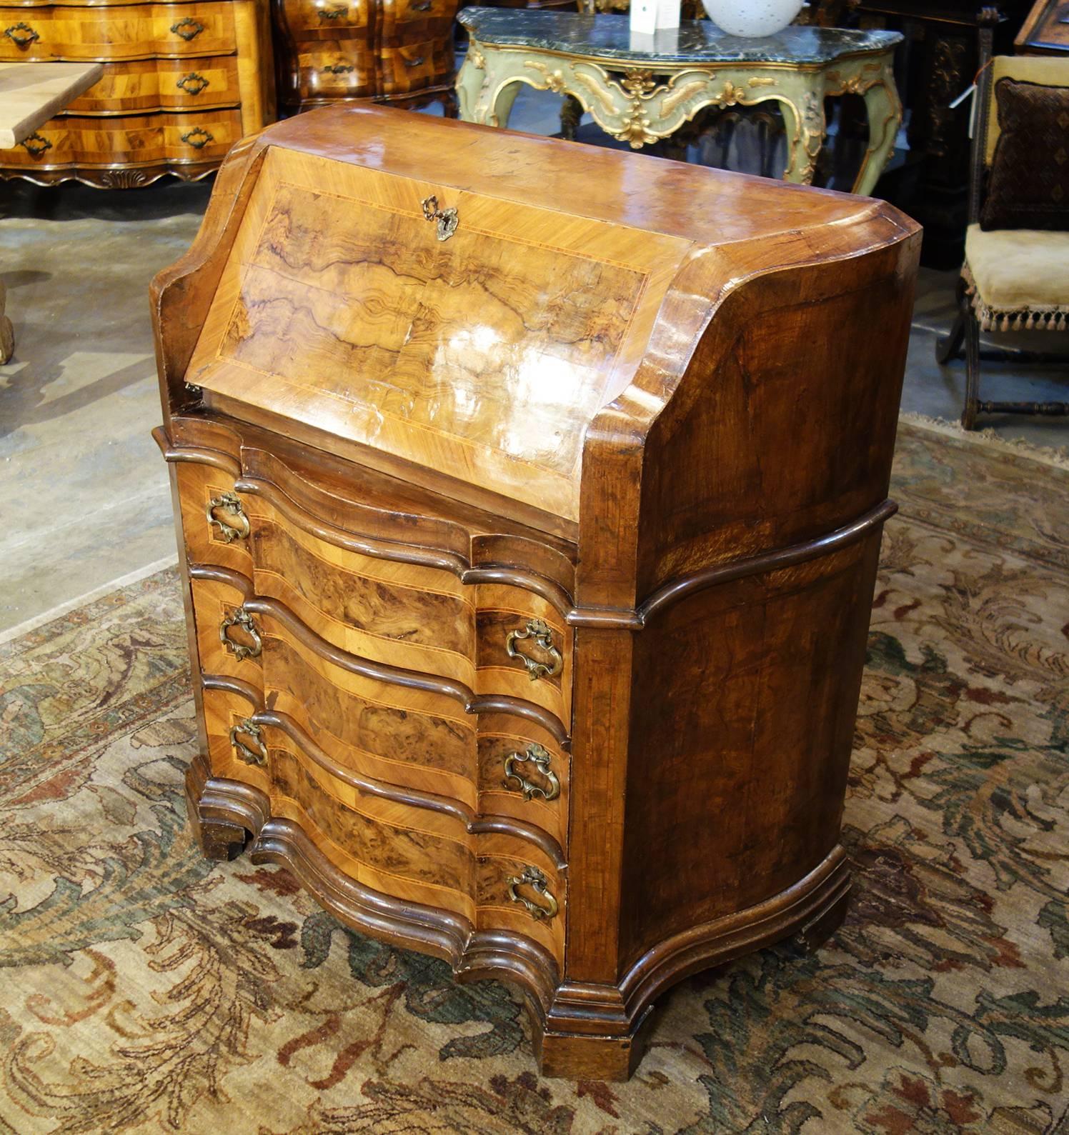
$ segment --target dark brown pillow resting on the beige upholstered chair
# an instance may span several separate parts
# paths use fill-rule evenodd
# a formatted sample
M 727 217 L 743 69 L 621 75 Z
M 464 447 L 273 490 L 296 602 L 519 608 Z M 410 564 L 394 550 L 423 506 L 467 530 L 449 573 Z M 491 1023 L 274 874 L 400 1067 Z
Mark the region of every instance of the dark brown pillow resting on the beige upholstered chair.
M 1001 78 L 980 228 L 1069 230 L 1069 87 Z

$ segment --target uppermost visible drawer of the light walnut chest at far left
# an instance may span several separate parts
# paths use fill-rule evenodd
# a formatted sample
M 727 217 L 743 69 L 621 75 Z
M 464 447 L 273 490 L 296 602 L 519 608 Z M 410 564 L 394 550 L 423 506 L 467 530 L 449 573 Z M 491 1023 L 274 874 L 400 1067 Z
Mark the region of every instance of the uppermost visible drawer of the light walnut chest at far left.
M 145 59 L 235 50 L 231 5 L 0 8 L 0 60 Z

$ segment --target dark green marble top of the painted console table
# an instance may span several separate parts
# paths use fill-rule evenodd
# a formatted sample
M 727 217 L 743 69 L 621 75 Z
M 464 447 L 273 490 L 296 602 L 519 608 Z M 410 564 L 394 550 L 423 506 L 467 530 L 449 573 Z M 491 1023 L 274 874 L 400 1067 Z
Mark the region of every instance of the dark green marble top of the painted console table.
M 713 59 L 723 64 L 822 66 L 844 56 L 886 51 L 902 41 L 897 32 L 801 26 L 750 40 L 728 35 L 708 19 L 685 19 L 678 30 L 633 39 L 626 15 L 532 8 L 465 8 L 457 18 L 481 43 L 643 64 Z

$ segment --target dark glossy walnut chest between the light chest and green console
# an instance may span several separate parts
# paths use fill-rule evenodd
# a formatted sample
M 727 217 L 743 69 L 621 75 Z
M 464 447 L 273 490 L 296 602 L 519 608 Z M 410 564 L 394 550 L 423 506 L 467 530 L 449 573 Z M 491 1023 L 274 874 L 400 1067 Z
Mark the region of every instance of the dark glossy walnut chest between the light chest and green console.
M 273 0 L 286 112 L 345 99 L 452 102 L 457 0 Z

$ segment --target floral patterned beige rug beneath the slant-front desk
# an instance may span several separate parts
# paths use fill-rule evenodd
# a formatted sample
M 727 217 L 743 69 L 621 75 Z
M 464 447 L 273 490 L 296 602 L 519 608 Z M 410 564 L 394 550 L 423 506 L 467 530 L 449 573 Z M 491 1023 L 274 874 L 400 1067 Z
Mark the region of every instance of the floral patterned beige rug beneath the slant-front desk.
M 0 647 L 0 1128 L 1069 1132 L 1069 471 L 903 424 L 893 491 L 847 922 L 677 986 L 628 1084 L 200 856 L 174 571 Z

